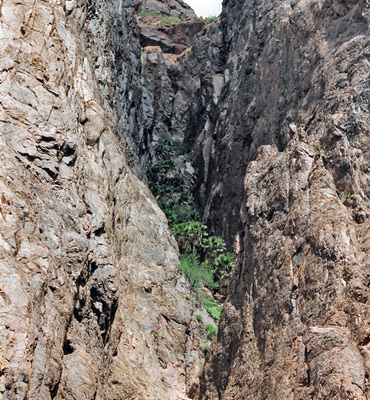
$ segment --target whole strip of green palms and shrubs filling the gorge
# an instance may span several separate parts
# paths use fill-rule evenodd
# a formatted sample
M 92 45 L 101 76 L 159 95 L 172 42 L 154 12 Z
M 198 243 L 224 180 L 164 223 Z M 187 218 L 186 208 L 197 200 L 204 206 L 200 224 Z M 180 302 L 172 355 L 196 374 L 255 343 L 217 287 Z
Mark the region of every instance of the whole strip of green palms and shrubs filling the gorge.
M 200 222 L 194 198 L 179 166 L 179 159 L 186 161 L 189 158 L 189 146 L 162 132 L 155 155 L 156 162 L 148 172 L 149 187 L 177 240 L 180 250 L 178 268 L 194 288 L 206 287 L 215 293 L 232 270 L 234 254 L 227 253 L 225 241 L 218 236 L 209 236 L 207 226 Z M 202 293 L 199 298 L 217 324 L 222 304 Z M 198 314 L 196 318 L 203 325 L 202 316 Z M 210 329 L 207 332 L 210 338 L 216 334 Z

